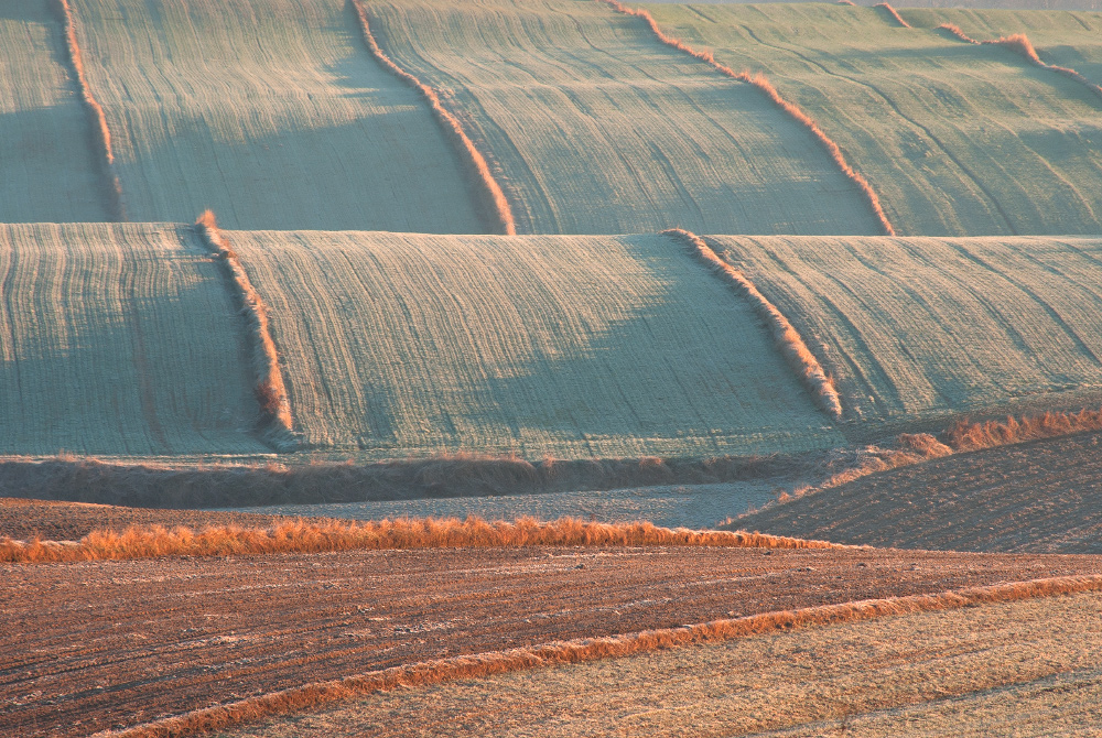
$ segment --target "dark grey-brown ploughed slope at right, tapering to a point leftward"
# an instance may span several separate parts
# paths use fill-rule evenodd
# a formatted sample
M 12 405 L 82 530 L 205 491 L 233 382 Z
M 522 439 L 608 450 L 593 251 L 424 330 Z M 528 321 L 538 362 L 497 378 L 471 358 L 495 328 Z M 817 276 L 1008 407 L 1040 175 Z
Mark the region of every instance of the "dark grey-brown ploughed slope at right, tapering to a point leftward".
M 839 543 L 1102 553 L 1102 434 L 988 448 L 863 477 L 733 528 Z

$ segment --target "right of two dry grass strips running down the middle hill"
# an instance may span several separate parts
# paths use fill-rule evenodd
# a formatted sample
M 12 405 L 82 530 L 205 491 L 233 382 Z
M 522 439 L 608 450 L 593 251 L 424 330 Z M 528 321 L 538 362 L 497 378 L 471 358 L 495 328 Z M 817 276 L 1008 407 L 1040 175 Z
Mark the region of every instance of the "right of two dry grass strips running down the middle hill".
M 785 360 L 799 376 L 819 406 L 831 416 L 841 419 L 842 402 L 834 388 L 834 381 L 823 371 L 819 359 L 803 343 L 803 338 L 800 337 L 799 332 L 792 327 L 784 313 L 777 310 L 776 305 L 769 302 L 768 297 L 761 294 L 754 286 L 754 283 L 746 279 L 745 274 L 720 259 L 715 251 L 695 234 L 682 228 L 673 228 L 662 231 L 662 234 L 680 240 L 693 256 L 727 280 L 739 294 L 749 301 L 754 312 L 769 326 L 773 339 L 780 348 Z

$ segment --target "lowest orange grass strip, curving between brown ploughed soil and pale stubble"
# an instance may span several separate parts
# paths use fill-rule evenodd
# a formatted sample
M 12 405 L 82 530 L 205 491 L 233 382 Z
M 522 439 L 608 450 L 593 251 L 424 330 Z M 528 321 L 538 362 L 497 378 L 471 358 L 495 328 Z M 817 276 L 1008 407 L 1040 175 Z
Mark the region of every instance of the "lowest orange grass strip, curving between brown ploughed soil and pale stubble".
M 224 729 L 277 715 L 313 709 L 336 702 L 401 687 L 490 676 L 598 659 L 719 642 L 793 628 L 872 620 L 885 616 L 933 612 L 1039 597 L 1102 590 L 1100 576 L 1069 576 L 969 587 L 932 595 L 910 595 L 822 605 L 798 610 L 764 612 L 728 620 L 713 620 L 680 628 L 644 630 L 605 638 L 585 638 L 453 656 L 315 682 L 255 697 L 194 710 L 154 723 L 101 734 L 104 738 L 176 738 Z

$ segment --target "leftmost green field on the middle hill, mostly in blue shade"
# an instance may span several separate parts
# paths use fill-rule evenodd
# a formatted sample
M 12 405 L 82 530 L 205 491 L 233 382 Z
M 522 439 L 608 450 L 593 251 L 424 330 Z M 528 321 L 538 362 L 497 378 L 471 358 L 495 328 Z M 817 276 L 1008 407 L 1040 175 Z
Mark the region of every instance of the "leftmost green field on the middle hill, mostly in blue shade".
M 0 226 L 0 453 L 268 451 L 217 265 L 169 224 Z

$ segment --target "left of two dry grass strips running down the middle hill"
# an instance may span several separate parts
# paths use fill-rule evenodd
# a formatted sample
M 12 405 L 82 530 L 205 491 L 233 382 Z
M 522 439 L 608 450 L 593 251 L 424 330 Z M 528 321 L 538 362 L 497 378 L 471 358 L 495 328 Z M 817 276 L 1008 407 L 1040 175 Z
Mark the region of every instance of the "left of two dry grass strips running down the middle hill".
M 290 451 L 296 446 L 291 401 L 287 395 L 279 355 L 272 340 L 268 307 L 252 286 L 249 275 L 241 267 L 226 236 L 218 228 L 214 213 L 210 210 L 203 213 L 195 221 L 195 230 L 223 263 L 226 276 L 234 285 L 235 295 L 241 302 L 241 313 L 249 325 L 252 370 L 257 377 L 253 390 L 264 415 L 264 437 L 279 451 Z

